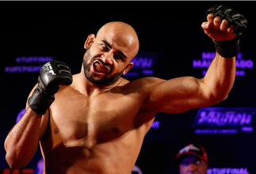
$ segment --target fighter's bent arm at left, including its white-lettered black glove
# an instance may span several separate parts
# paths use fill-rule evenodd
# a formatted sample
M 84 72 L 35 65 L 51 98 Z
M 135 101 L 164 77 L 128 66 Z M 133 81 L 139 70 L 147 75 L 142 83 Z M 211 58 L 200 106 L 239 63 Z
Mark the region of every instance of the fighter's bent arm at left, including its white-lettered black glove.
M 36 153 L 38 142 L 48 125 L 48 108 L 59 85 L 71 85 L 72 75 L 63 62 L 51 61 L 42 67 L 38 85 L 32 89 L 25 115 L 7 135 L 6 161 L 10 168 L 25 167 Z

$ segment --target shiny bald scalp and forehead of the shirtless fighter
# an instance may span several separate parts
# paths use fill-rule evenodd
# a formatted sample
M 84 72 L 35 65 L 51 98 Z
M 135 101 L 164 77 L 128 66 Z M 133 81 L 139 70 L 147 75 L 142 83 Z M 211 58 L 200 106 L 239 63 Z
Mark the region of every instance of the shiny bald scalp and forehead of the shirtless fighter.
M 134 28 L 124 22 L 113 21 L 103 25 L 96 39 L 111 40 L 120 47 L 127 47 L 132 58 L 139 51 L 139 39 Z

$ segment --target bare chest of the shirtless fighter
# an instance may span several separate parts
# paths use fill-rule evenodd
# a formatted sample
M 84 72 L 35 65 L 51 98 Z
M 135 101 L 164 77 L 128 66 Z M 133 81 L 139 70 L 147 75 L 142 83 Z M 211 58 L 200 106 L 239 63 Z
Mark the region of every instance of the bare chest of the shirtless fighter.
M 56 96 L 50 116 L 52 136 L 61 137 L 66 146 L 89 148 L 109 142 L 134 129 L 139 107 L 139 100 L 131 96 Z

